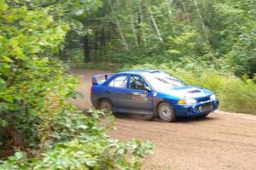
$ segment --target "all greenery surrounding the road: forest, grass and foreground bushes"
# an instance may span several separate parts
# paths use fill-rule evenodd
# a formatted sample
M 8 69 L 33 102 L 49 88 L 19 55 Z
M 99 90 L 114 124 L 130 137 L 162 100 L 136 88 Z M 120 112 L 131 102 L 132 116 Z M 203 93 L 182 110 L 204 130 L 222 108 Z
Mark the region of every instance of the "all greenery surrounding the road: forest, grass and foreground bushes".
M 70 67 L 160 69 L 256 114 L 256 2 L 0 0 L 0 169 L 139 169 L 154 144 L 67 99 Z M 106 119 L 102 119 L 106 117 Z

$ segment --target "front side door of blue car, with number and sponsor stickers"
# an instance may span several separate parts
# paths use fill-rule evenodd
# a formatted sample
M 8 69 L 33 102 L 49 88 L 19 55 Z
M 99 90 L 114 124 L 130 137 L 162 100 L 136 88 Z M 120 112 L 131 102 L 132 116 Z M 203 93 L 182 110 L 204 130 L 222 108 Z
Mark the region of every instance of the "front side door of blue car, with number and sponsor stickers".
M 143 77 L 131 75 L 128 84 L 127 105 L 132 111 L 153 111 L 153 92 L 146 89 Z

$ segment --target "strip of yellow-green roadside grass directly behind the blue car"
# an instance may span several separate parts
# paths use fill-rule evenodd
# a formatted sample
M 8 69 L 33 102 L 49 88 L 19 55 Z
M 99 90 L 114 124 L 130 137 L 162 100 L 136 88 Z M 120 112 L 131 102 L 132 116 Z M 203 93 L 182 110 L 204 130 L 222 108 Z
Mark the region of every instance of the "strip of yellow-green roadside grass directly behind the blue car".
M 74 66 L 74 65 L 73 65 Z M 182 68 L 169 68 L 165 65 L 116 65 L 109 63 L 87 63 L 75 65 L 86 69 L 125 71 L 131 69 L 160 69 L 172 73 L 189 84 L 208 88 L 217 94 L 219 110 L 256 115 L 256 77 L 243 79 L 224 71 L 205 69 L 204 71 L 187 71 Z

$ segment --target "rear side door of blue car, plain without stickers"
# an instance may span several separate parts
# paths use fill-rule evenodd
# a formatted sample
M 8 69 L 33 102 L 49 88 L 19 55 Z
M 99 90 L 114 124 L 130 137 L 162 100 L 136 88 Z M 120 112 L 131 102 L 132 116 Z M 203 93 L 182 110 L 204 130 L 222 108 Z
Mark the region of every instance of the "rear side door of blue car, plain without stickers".
M 118 75 L 108 82 L 107 87 L 103 90 L 103 94 L 113 102 L 113 106 L 118 110 L 128 109 L 126 104 L 128 75 Z

